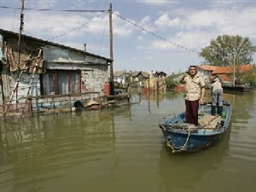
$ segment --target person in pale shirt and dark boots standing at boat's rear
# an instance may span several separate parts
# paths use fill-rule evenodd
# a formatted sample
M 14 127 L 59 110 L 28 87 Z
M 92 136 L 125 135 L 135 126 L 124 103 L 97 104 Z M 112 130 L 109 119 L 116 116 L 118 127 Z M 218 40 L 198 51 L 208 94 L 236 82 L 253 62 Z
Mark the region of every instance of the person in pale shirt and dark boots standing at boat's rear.
M 217 108 L 217 114 L 221 114 L 222 108 L 223 108 L 223 88 L 218 78 L 215 78 L 212 80 L 211 89 L 212 89 L 211 113 L 212 115 L 216 115 L 216 108 Z

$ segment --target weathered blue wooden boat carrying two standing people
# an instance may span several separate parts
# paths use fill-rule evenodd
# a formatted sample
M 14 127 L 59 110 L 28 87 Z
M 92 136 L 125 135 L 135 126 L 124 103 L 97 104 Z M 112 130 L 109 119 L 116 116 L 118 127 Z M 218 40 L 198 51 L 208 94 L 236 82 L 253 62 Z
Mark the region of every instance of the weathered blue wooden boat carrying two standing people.
M 175 115 L 159 124 L 166 139 L 166 145 L 172 152 L 199 151 L 218 143 L 228 129 L 232 114 L 230 102 L 224 102 L 223 115 L 211 115 L 211 103 L 199 108 L 199 125 L 185 122 L 185 113 Z

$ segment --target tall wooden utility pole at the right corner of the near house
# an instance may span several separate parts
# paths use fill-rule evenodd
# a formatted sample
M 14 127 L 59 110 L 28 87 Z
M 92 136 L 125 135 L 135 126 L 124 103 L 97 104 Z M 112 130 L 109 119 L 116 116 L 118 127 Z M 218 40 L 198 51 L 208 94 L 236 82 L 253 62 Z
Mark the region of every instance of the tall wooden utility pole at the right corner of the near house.
M 113 87 L 113 27 L 112 27 L 112 3 L 109 4 L 109 45 L 110 45 L 110 95 L 114 94 Z

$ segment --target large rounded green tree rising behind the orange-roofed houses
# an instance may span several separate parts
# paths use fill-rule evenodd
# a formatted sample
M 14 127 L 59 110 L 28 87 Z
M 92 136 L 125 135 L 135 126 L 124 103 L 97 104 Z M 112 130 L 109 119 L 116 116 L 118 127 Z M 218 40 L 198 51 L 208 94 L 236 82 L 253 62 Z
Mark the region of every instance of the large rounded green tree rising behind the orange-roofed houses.
M 204 63 L 207 65 L 224 67 L 233 65 L 234 61 L 236 64 L 252 63 L 254 52 L 256 46 L 253 46 L 249 38 L 223 35 L 201 49 L 199 55 L 205 59 Z

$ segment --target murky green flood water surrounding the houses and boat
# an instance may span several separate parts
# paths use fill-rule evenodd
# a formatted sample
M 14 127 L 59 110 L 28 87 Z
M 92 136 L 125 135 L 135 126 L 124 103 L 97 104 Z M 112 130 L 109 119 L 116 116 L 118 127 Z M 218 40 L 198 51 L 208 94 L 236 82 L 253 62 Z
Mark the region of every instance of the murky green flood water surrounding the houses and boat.
M 256 91 L 225 93 L 229 130 L 199 153 L 172 154 L 161 117 L 183 94 L 134 95 L 130 107 L 0 121 L 0 191 L 254 192 Z

